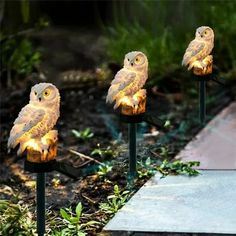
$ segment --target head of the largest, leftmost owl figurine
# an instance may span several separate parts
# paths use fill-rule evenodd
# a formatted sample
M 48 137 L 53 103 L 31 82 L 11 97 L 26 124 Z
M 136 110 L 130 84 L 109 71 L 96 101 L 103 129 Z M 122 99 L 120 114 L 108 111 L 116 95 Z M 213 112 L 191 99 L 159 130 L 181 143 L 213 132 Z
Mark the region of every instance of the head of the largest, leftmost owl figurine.
M 31 88 L 30 103 L 37 106 L 52 106 L 60 102 L 60 94 L 56 86 L 50 83 L 39 83 Z

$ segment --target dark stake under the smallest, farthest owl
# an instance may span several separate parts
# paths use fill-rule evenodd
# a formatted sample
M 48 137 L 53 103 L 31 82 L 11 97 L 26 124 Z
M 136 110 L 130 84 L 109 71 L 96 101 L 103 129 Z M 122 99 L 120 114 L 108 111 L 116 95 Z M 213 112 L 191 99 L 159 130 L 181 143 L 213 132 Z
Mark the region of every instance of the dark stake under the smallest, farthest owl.
M 205 117 L 206 117 L 206 82 L 199 81 L 199 118 L 201 125 L 205 124 Z

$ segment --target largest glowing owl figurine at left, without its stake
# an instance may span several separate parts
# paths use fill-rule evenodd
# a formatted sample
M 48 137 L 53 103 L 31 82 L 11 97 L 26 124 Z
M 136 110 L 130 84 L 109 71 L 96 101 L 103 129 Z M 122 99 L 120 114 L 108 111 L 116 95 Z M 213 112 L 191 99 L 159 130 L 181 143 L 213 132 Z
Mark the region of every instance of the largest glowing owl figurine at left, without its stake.
M 20 111 L 10 132 L 8 149 L 20 145 L 17 152 L 22 154 L 34 143 L 34 150 L 47 154 L 50 142 L 57 139 L 52 130 L 60 115 L 60 94 L 50 83 L 39 83 L 31 88 L 30 101 Z

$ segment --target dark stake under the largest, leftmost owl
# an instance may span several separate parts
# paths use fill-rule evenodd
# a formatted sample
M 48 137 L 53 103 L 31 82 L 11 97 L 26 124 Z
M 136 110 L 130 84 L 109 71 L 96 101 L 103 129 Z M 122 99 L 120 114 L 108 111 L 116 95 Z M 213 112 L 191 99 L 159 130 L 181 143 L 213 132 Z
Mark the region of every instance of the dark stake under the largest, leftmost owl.
M 37 233 L 45 233 L 45 173 L 37 173 Z

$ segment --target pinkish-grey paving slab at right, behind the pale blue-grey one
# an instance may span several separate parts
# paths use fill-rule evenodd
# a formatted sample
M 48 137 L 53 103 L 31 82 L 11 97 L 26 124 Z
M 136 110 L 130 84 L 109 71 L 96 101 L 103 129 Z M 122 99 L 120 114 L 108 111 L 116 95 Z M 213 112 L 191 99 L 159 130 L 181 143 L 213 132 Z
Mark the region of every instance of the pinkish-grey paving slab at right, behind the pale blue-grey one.
M 236 102 L 219 113 L 177 156 L 199 169 L 236 169 Z

